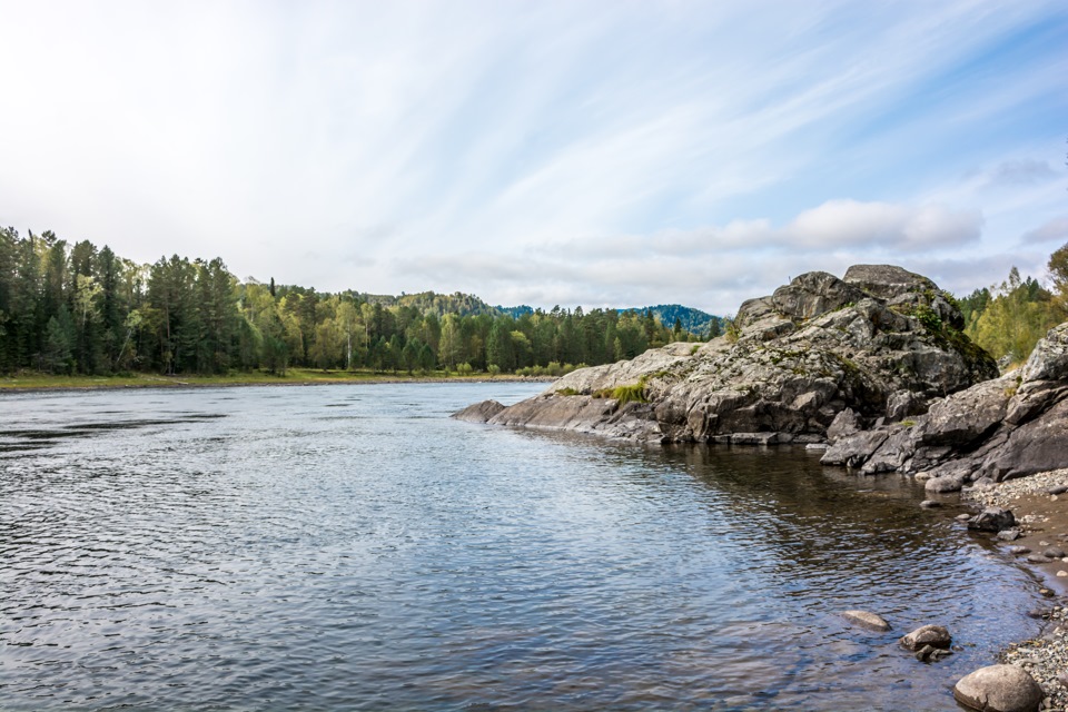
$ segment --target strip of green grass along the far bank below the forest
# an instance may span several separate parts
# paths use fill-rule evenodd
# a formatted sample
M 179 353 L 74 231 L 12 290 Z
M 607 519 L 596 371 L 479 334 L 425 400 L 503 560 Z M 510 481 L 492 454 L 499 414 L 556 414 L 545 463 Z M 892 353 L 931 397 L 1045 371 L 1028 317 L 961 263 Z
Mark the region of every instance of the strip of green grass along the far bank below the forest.
M 218 376 L 161 376 L 159 374 L 126 374 L 121 376 L 53 376 L 39 373 L 0 375 L 0 392 L 7 389 L 50 388 L 151 388 L 166 386 L 257 386 L 257 385 L 313 385 L 330 383 L 393 383 L 397 380 L 482 380 L 494 376 L 483 373 L 459 375 L 444 370 L 409 375 L 407 372 L 375 373 L 372 370 L 322 370 L 318 368 L 289 368 L 286 375 L 265 370 L 234 372 Z M 507 376 L 495 376 L 505 379 Z

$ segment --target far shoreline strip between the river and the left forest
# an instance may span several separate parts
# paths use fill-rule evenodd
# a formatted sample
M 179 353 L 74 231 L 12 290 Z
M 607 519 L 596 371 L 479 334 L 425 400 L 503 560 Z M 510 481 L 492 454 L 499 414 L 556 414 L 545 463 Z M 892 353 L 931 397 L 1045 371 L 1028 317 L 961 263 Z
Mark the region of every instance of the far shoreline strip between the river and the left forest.
M 247 388 L 255 386 L 268 387 L 289 387 L 289 386 L 337 386 L 337 385 L 384 385 L 384 384 L 436 384 L 436 383 L 552 383 L 558 376 L 515 376 L 504 374 L 500 376 L 490 376 L 478 374 L 474 376 L 358 376 L 343 378 L 301 378 L 287 380 L 286 377 L 279 377 L 278 380 L 201 380 L 192 377 L 184 380 L 178 376 L 139 376 L 132 382 L 129 377 L 116 377 L 118 383 L 106 383 L 107 377 L 101 376 L 100 380 L 105 383 L 86 384 L 56 384 L 56 385 L 8 385 L 8 379 L 0 378 L 0 397 L 4 394 L 32 394 L 32 393 L 81 393 L 91 390 L 122 390 L 122 389 L 149 389 L 149 388 Z M 188 378 L 188 377 L 187 377 Z

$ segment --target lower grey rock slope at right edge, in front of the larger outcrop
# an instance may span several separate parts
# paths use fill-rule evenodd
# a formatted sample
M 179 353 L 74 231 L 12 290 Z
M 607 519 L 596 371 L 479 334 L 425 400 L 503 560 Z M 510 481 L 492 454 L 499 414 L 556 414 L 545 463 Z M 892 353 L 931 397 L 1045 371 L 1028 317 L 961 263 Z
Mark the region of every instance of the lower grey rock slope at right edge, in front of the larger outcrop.
M 1068 458 L 1068 323 L 1022 368 L 936 399 L 914 421 L 833 432 L 825 464 L 923 474 L 928 492 L 1058 469 Z

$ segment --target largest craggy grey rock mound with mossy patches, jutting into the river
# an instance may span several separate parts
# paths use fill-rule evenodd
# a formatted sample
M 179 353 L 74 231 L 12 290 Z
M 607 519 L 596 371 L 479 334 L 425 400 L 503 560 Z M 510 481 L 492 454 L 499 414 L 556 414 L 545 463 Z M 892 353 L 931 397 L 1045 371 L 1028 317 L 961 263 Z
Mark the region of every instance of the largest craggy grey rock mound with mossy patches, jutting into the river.
M 578 369 L 540 396 L 464 417 L 642 441 L 814 443 L 847 409 L 853 421 L 840 433 L 923 413 L 929 399 L 997 375 L 958 330 L 952 298 L 900 267 L 801 275 L 744 303 L 735 324 L 735 340 Z

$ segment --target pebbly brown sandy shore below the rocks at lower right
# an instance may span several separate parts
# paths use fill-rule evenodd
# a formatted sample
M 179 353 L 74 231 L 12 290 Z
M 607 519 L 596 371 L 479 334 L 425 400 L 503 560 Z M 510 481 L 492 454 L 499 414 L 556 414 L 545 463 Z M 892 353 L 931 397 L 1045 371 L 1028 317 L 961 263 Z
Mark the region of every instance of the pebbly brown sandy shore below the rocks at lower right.
M 1042 633 L 1010 645 L 1000 662 L 1029 672 L 1049 695 L 1047 709 L 1068 710 L 1068 556 L 1056 555 L 1068 552 L 1068 468 L 971 488 L 962 498 L 1016 515 L 1020 537 L 1002 546 L 1040 576 L 1050 605 L 1034 612 L 1046 621 Z

